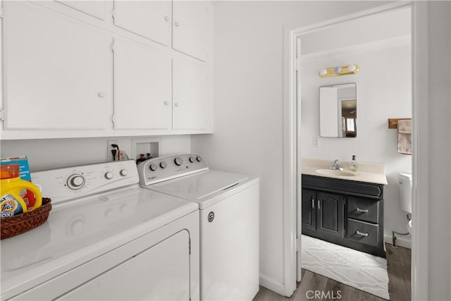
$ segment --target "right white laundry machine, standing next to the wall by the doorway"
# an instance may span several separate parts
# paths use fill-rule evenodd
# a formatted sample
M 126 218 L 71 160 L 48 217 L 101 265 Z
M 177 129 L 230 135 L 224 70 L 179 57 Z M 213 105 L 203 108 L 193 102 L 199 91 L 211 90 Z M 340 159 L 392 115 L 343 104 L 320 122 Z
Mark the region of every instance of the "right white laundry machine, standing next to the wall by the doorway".
M 259 290 L 259 178 L 209 169 L 199 154 L 138 165 L 140 185 L 199 204 L 201 300 L 252 300 Z

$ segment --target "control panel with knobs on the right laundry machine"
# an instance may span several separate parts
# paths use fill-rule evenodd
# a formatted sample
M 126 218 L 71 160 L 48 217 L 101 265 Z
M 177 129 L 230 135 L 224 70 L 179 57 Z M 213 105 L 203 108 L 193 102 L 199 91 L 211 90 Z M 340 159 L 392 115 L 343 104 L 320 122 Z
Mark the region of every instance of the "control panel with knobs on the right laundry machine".
M 199 154 L 176 154 L 159 156 L 138 164 L 140 185 L 147 186 L 209 169 Z

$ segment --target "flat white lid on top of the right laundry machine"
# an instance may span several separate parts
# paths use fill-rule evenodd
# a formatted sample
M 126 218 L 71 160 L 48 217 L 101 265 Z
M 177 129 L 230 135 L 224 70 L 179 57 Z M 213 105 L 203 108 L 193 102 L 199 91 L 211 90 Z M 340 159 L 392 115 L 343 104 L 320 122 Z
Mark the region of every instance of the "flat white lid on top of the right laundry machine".
M 153 187 L 170 195 L 200 202 L 201 199 L 209 195 L 226 190 L 247 179 L 249 179 L 249 176 L 209 170 L 158 183 L 153 185 Z

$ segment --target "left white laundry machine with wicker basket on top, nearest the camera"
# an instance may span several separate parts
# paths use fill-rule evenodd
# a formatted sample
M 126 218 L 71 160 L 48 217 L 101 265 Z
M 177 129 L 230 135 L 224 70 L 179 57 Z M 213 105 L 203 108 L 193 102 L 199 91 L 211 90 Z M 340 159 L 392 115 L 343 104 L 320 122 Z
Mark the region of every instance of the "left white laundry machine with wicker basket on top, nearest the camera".
M 1 240 L 1 300 L 199 300 L 197 204 L 140 188 L 132 160 L 32 180 L 53 209 Z

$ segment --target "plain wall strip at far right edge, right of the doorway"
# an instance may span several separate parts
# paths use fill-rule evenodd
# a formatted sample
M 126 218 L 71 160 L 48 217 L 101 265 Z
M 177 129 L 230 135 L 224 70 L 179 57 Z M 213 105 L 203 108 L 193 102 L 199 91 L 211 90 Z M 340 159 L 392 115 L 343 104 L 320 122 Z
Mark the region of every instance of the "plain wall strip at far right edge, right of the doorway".
M 414 246 L 428 252 L 427 300 L 451 300 L 451 2 L 421 3 L 419 24 L 427 27 L 419 31 L 420 49 L 427 54 L 419 56 L 419 99 L 422 134 L 428 138 L 421 144 L 419 169 L 419 202 L 428 204 L 428 236 L 419 237 Z M 426 18 L 425 18 L 426 17 Z M 424 189 L 421 185 L 428 183 Z M 426 195 L 424 193 L 426 192 Z M 424 214 L 419 212 L 419 215 Z M 424 246 L 424 247 L 423 247 Z M 413 253 L 421 262 L 421 254 Z M 420 296 L 423 297 L 423 296 Z M 426 298 L 425 298 L 426 299 Z

